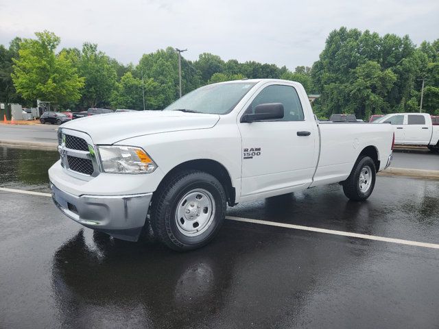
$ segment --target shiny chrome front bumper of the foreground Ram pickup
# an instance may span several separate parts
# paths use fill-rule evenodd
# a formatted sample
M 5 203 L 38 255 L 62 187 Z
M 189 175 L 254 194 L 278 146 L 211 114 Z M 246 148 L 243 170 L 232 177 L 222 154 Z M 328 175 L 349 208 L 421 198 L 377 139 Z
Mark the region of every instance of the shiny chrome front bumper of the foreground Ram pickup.
M 137 241 L 152 193 L 136 195 L 72 195 L 50 183 L 52 198 L 64 215 L 117 239 Z

